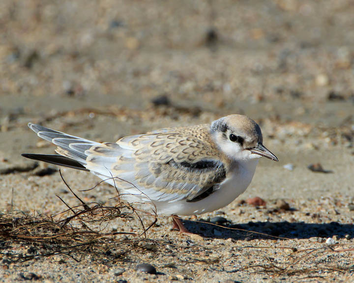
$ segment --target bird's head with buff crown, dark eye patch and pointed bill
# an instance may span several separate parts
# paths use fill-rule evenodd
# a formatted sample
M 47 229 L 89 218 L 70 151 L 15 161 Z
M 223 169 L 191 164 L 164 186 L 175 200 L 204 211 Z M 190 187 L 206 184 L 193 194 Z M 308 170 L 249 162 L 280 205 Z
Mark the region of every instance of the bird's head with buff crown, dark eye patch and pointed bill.
M 213 141 L 230 159 L 250 160 L 264 156 L 278 158 L 263 145 L 260 126 L 244 115 L 229 115 L 210 125 Z

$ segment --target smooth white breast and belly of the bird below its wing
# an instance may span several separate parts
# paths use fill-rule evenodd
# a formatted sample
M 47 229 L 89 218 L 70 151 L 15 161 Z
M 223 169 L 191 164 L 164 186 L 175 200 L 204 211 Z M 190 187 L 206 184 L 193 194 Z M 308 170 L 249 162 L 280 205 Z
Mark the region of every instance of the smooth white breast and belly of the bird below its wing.
M 207 198 L 195 202 L 179 200 L 171 203 L 155 202 L 157 214 L 194 215 L 211 212 L 231 203 L 251 183 L 259 159 L 237 162 L 228 172 L 220 188 Z

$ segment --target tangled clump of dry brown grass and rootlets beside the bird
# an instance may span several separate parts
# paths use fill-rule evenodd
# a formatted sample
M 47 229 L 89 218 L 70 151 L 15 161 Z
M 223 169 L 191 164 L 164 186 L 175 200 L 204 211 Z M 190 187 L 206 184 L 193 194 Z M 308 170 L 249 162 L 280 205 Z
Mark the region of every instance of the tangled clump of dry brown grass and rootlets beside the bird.
M 62 177 L 61 173 L 60 176 Z M 100 203 L 86 203 L 79 198 L 63 182 L 80 202 L 77 206 L 69 206 L 62 198 L 60 200 L 67 207 L 66 210 L 52 216 L 30 215 L 22 211 L 11 209 L 7 214 L 0 214 L 0 244 L 2 250 L 12 244 L 35 247 L 35 253 L 27 255 L 10 252 L 0 252 L 9 262 L 23 262 L 53 255 L 68 255 L 76 261 L 84 255 L 92 255 L 95 258 L 122 259 L 137 248 L 140 241 L 144 241 L 147 228 L 140 217 L 142 211 L 137 211 L 130 204 L 118 201 L 115 206 L 105 206 Z M 63 217 L 63 215 L 68 215 Z M 127 221 L 138 218 L 142 231 L 107 231 L 110 221 L 115 219 Z M 131 237 L 122 237 L 130 235 Z M 118 237 L 120 236 L 120 237 Z M 117 250 L 115 256 L 111 250 Z

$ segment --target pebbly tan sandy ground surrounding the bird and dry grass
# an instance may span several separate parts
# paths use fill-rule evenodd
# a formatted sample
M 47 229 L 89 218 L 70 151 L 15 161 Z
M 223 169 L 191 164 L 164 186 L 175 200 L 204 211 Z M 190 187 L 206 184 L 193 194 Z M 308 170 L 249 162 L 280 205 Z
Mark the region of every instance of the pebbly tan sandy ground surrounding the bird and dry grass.
M 229 206 L 185 217 L 200 236 L 179 235 L 159 218 L 124 257 L 83 252 L 13 263 L 10 254 L 29 254 L 36 243 L 0 238 L 0 281 L 354 282 L 353 14 L 351 0 L 2 0 L 1 213 L 55 214 L 65 209 L 56 195 L 77 204 L 58 170 L 39 176 L 48 166 L 20 156 L 54 152 L 28 122 L 114 142 L 241 113 L 259 122 L 279 162 L 261 160 Z M 154 105 L 160 96 L 170 103 Z M 318 163 L 330 172 L 308 169 Z M 99 181 L 63 174 L 75 192 Z M 115 189 L 79 194 L 112 203 Z M 266 206 L 241 201 L 253 197 Z M 194 222 L 215 216 L 227 227 Z M 138 220 L 109 228 L 141 232 Z M 139 263 L 157 275 L 135 271 Z

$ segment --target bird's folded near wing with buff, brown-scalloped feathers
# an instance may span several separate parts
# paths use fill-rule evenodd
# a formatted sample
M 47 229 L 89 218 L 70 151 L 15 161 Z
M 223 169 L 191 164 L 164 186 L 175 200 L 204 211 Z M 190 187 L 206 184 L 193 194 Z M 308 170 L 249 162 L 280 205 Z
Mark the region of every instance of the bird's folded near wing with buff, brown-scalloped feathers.
M 203 126 L 174 128 L 172 132 L 164 129 L 93 146 L 87 151 L 86 168 L 122 179 L 115 179 L 117 188 L 141 195 L 142 200 L 193 201 L 226 177 L 225 166 L 207 142 Z M 108 167 L 107 160 L 112 158 L 116 161 Z

